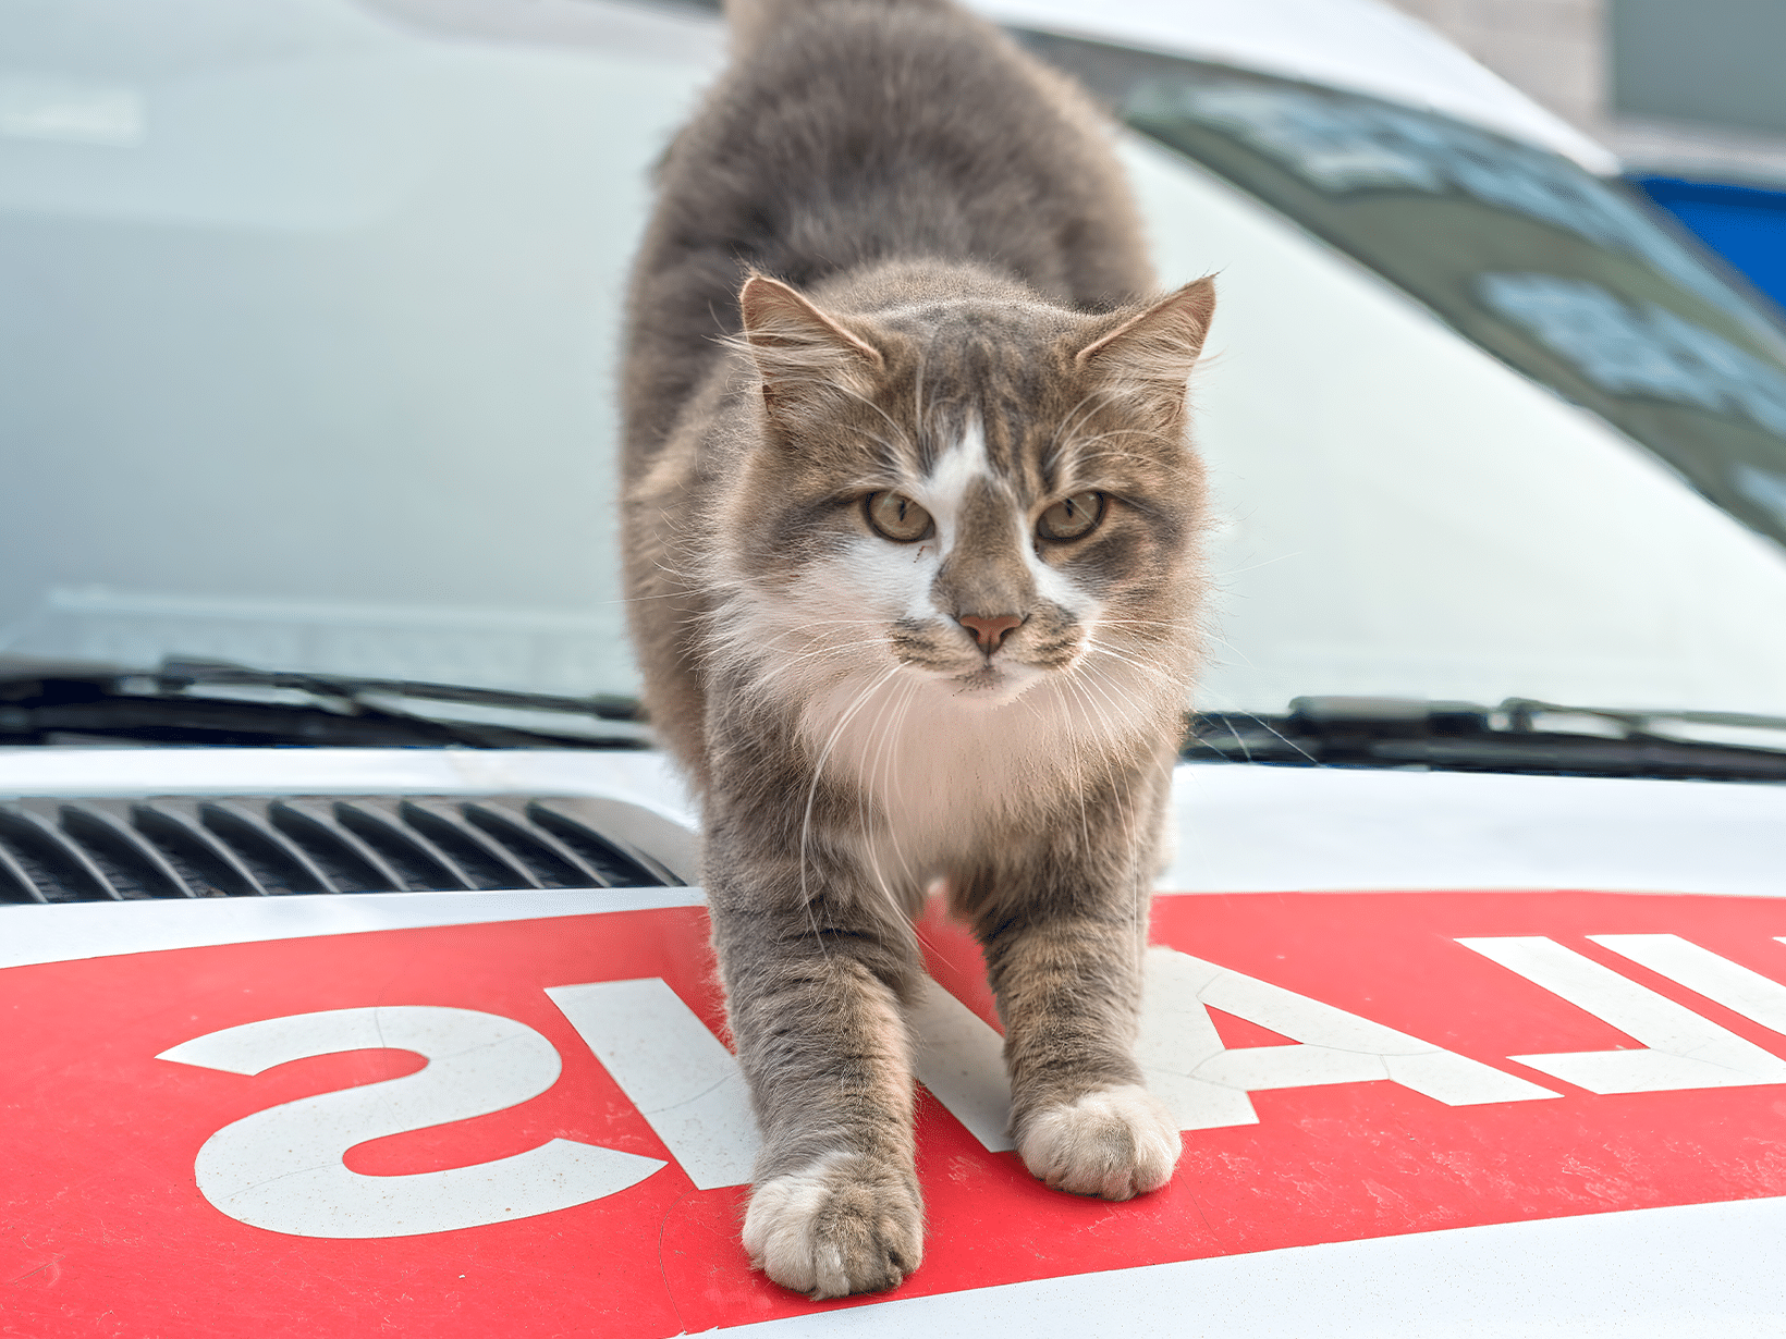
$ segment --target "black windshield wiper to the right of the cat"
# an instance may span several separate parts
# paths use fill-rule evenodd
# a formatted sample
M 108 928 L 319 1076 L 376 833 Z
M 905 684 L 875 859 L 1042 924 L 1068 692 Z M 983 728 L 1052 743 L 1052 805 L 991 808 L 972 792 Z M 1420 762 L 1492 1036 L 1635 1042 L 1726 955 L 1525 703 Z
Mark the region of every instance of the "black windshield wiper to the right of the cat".
M 1743 743 L 1707 734 L 1740 734 Z M 1536 698 L 1484 707 L 1311 696 L 1295 698 L 1279 716 L 1198 712 L 1182 755 L 1334 768 L 1786 780 L 1786 718 L 1570 707 Z

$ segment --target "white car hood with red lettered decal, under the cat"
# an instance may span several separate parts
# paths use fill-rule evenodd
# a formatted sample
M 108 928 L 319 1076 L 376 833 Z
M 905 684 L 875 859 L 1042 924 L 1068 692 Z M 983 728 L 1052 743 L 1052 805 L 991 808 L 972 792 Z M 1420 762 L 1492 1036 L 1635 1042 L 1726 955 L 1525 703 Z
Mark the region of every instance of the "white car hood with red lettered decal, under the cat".
M 652 753 L 20 750 L 0 794 L 693 823 Z M 755 1135 L 698 889 L 0 907 L 9 1310 L 213 1334 L 1786 1323 L 1786 787 L 1200 764 L 1173 816 L 1139 1039 L 1184 1128 L 1172 1185 L 1107 1205 L 1023 1173 L 977 948 L 932 909 L 929 1255 L 845 1303 L 738 1246 Z M 227 1296 L 195 1268 L 223 1259 Z

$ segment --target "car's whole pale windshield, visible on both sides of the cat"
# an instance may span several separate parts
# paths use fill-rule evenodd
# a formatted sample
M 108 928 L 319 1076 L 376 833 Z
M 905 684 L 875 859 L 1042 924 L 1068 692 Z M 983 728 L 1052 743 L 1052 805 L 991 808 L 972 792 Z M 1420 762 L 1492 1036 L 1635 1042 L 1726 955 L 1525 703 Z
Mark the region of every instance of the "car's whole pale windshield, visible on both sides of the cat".
M 1543 150 L 1027 36 L 1220 273 L 1198 705 L 1786 712 L 1786 364 Z M 636 687 L 614 368 L 723 50 L 600 0 L 66 0 L 0 55 L 0 653 Z

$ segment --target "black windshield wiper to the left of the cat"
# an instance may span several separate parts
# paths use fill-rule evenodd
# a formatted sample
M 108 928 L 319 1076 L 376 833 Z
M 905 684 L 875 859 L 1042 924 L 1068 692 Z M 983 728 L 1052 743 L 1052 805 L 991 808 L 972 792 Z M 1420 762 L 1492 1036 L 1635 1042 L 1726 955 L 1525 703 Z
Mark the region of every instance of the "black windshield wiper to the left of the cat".
M 157 670 L 0 657 L 0 744 L 111 741 L 263 748 L 650 743 L 638 703 L 620 696 L 254 670 L 191 657 L 170 657 Z

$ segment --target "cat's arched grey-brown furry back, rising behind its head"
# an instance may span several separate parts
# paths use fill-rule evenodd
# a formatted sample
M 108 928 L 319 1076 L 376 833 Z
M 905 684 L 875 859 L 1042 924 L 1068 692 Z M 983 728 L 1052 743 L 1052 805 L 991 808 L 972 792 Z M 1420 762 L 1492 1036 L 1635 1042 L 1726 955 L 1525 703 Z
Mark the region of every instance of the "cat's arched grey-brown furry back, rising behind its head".
M 1152 287 L 1089 100 L 947 0 L 741 0 L 734 61 L 664 157 L 629 309 L 638 478 L 739 329 L 752 271 L 802 289 L 972 261 L 1100 309 Z

